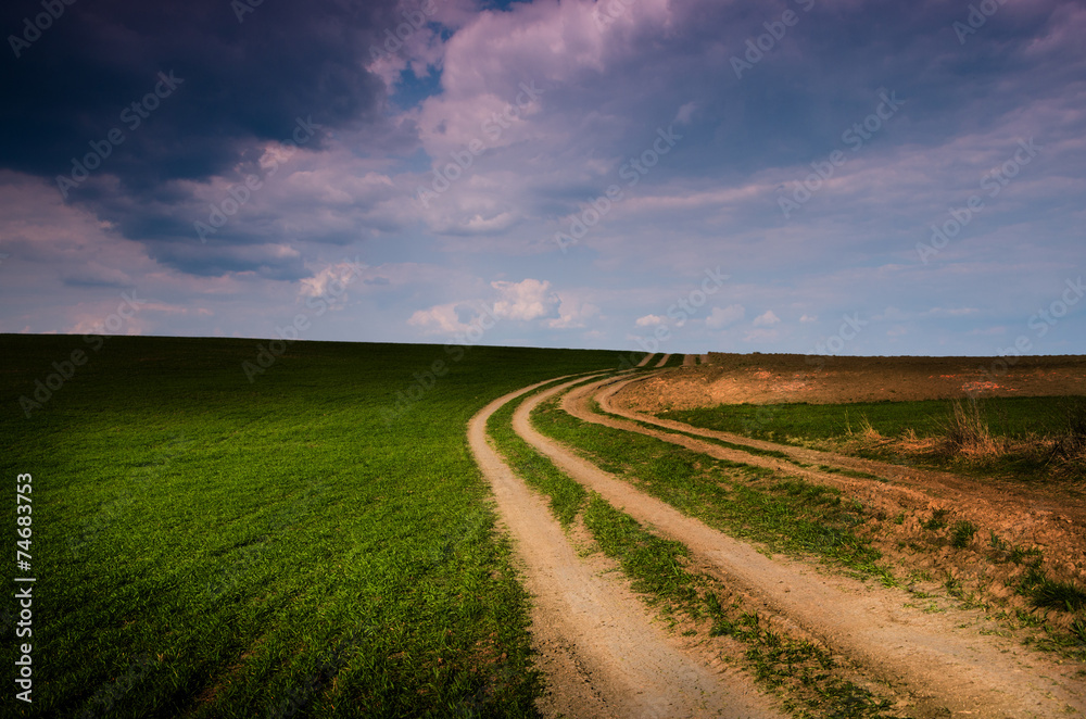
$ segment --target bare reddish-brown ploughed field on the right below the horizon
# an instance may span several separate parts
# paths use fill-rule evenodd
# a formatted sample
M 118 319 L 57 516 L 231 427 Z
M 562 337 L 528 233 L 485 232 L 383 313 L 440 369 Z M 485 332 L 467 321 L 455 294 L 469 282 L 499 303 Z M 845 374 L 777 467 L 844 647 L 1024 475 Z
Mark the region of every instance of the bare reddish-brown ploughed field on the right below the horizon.
M 703 355 L 704 358 L 704 355 Z M 1086 357 L 836 357 L 710 352 L 622 396 L 656 413 L 718 404 L 879 402 L 977 396 L 1086 395 Z

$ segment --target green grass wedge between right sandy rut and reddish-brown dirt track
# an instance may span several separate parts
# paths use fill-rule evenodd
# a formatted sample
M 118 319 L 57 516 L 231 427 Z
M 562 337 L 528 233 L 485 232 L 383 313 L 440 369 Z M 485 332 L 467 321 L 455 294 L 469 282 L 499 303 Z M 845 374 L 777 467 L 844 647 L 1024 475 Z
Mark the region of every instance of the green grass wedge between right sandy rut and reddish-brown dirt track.
M 773 470 L 715 459 L 656 438 L 582 422 L 557 400 L 533 412 L 540 431 L 577 447 L 601 468 L 626 476 L 686 515 L 775 551 L 813 554 L 867 576 L 889 580 L 880 553 L 851 529 L 861 507 L 841 492 Z

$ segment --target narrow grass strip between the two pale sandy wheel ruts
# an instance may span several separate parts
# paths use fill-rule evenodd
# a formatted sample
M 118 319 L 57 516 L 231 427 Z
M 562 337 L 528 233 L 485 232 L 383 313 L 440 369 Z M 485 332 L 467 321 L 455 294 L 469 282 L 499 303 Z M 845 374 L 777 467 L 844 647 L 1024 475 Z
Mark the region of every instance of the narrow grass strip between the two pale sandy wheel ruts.
M 541 388 L 538 391 L 542 391 Z M 584 488 L 513 431 L 509 422 L 529 395 L 503 406 L 488 422 L 498 451 L 529 484 L 550 500 L 552 514 L 570 526 L 578 517 L 599 550 L 615 559 L 634 591 L 667 615 L 680 613 L 690 621 L 708 619 L 709 635 L 728 634 L 744 646 L 743 659 L 755 679 L 773 690 L 784 690 L 786 704 L 801 716 L 882 717 L 888 702 L 839 676 L 836 660 L 824 649 L 765 628 L 757 614 L 740 603 L 721 605 L 716 582 L 687 570 L 689 550 L 681 542 L 647 531 L 626 513 Z M 659 458 L 657 469 L 682 471 L 681 465 Z M 796 485 L 799 493 L 806 489 Z M 692 636 L 696 629 L 686 629 Z M 811 715 L 813 711 L 813 715 Z

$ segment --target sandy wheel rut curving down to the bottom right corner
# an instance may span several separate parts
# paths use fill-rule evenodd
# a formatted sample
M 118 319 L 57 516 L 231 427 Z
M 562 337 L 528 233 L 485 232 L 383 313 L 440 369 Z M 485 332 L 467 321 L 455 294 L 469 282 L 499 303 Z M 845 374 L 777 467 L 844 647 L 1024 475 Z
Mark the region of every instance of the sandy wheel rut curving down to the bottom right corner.
M 760 597 L 771 613 L 858 661 L 871 677 L 908 692 L 914 716 L 946 716 L 949 710 L 976 717 L 1047 717 L 1066 716 L 1069 707 L 1086 709 L 1082 681 L 1073 679 L 1076 667 L 1059 667 L 1010 640 L 959 627 L 975 623 L 976 613 L 925 614 L 902 606 L 906 595 L 900 591 L 766 557 L 543 437 L 529 422 L 531 408 L 571 383 L 521 405 L 514 416 L 516 431 L 637 521 L 683 542 L 723 581 Z

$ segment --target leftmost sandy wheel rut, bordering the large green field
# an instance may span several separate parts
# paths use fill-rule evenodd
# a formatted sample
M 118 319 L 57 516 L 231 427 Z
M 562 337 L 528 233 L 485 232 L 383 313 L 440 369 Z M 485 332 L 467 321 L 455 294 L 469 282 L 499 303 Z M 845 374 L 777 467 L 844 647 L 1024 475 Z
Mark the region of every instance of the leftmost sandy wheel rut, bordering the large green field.
M 551 689 L 543 708 L 567 717 L 782 716 L 741 676 L 681 651 L 626 582 L 601 576 L 613 564 L 579 558 L 544 500 L 490 446 L 487 419 L 534 387 L 488 404 L 469 422 L 468 443 L 534 597 L 531 631 Z

